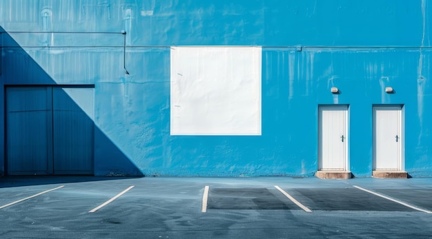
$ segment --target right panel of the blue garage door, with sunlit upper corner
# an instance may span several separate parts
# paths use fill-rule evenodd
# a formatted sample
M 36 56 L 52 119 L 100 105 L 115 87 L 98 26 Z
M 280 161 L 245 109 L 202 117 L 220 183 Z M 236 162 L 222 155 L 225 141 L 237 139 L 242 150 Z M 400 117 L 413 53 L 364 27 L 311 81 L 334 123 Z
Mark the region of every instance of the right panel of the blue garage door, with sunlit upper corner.
M 53 88 L 55 174 L 93 174 L 93 95 L 93 88 Z

